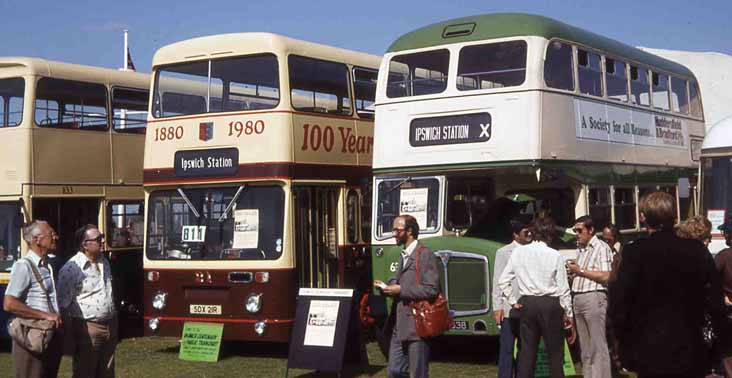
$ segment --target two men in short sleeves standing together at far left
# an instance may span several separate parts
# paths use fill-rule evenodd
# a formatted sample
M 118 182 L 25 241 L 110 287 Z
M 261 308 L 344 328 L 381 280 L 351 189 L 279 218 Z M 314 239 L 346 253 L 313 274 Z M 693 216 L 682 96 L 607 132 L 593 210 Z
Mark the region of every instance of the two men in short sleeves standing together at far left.
M 66 353 L 74 377 L 113 377 L 118 326 L 104 235 L 95 225 L 78 229 L 78 251 L 58 275 L 48 258 L 58 242 L 54 229 L 36 220 L 23 228 L 23 239 L 28 253 L 13 266 L 3 307 L 18 318 L 52 322 L 53 336 L 40 352 L 13 338 L 14 376 L 56 377 Z

